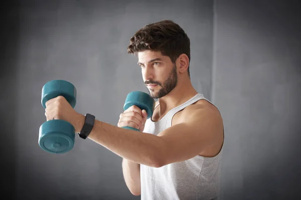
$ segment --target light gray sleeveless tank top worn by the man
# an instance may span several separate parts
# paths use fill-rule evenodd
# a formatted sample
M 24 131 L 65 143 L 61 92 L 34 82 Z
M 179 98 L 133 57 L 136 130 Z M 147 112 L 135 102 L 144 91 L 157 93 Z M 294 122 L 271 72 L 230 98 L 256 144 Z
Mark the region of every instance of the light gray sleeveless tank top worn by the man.
M 143 132 L 157 135 L 171 126 L 172 118 L 178 111 L 200 99 L 206 98 L 198 93 L 185 103 L 171 109 L 159 121 L 147 119 Z M 209 200 L 217 198 L 220 188 L 222 150 L 223 146 L 214 157 L 197 155 L 191 159 L 159 168 L 140 164 L 141 199 Z

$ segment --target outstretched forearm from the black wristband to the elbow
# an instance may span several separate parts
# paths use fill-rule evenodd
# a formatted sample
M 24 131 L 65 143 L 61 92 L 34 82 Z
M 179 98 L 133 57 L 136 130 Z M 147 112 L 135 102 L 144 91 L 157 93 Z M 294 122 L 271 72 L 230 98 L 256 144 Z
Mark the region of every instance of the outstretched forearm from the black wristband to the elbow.
M 154 167 L 161 164 L 165 141 L 156 135 L 95 120 L 88 138 L 130 161 Z

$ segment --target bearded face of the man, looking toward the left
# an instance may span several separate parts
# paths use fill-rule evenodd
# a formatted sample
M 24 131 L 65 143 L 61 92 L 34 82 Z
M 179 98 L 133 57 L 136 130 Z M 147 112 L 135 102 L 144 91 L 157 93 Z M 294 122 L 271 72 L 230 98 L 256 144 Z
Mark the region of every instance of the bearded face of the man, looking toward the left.
M 144 84 L 153 98 L 161 98 L 172 91 L 178 83 L 176 65 L 161 52 L 145 50 L 138 52 Z

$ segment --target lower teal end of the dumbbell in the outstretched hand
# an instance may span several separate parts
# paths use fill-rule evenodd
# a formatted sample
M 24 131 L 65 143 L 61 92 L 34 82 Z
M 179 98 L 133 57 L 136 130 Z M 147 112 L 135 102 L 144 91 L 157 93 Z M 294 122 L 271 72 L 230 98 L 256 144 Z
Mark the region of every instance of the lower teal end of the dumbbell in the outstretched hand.
M 65 153 L 75 142 L 74 126 L 60 119 L 45 121 L 39 129 L 39 145 L 50 153 Z

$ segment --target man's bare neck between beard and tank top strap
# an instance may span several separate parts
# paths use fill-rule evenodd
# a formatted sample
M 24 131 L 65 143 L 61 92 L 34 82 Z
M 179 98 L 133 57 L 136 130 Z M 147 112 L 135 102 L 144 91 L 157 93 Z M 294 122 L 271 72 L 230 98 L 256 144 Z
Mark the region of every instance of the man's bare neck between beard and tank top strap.
M 179 82 L 170 93 L 159 98 L 160 114 L 162 115 L 172 108 L 181 105 L 197 93 L 190 80 L 182 83 Z

